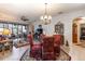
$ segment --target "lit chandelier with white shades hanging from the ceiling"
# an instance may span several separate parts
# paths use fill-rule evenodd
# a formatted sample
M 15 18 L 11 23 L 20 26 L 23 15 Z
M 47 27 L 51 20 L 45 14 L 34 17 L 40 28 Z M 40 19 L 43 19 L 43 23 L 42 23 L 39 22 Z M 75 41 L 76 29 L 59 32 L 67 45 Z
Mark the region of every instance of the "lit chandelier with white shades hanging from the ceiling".
M 45 13 L 40 17 L 40 20 L 45 24 L 49 24 L 52 21 L 52 16 L 47 13 L 47 3 L 45 3 Z

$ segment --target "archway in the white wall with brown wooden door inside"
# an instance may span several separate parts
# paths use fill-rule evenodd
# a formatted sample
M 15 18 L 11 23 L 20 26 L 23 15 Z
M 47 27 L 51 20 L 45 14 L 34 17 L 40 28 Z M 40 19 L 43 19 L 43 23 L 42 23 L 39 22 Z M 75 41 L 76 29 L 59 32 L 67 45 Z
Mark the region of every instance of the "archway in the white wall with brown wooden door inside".
M 85 18 L 77 17 L 72 23 L 72 42 L 81 43 L 85 41 Z

